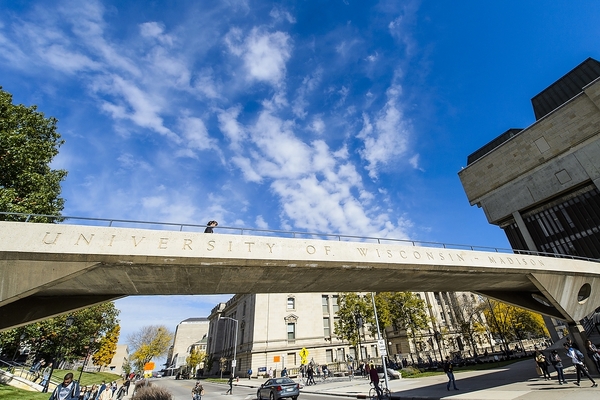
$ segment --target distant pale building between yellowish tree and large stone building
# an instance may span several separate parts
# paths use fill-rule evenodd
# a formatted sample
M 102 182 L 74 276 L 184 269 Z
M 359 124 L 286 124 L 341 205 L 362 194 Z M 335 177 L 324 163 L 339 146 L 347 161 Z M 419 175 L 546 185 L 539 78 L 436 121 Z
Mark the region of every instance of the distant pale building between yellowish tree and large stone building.
M 168 371 L 177 373 L 181 367 L 185 367 L 192 348 L 205 349 L 201 342 L 206 339 L 208 329 L 207 318 L 188 318 L 177 325 L 167 360 Z

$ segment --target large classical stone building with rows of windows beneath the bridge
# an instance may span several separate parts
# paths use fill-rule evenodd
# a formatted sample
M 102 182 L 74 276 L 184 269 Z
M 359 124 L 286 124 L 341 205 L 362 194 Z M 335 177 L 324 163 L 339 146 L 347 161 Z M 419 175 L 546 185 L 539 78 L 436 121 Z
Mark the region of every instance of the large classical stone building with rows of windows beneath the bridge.
M 465 318 L 485 323 L 481 312 L 465 314 L 472 309 L 465 305 L 478 303 L 479 296 L 446 292 L 416 295 L 425 301 L 432 322 L 429 329 L 415 337 L 407 337 L 403 327 L 389 327 L 386 350 L 391 359 L 400 362 L 407 358 L 415 363 L 441 361 L 448 354 L 459 353 L 466 357 L 491 349 L 487 335 L 476 334 L 464 340 L 457 328 Z M 298 368 L 303 348 L 308 351 L 307 361 L 319 365 L 345 363 L 348 356 L 357 359 L 356 349 L 334 334 L 338 296 L 338 293 L 244 294 L 218 304 L 208 317 L 207 353 L 213 356 L 210 373 L 217 373 L 221 358 L 226 359 L 226 370 L 231 370 L 234 343 L 237 343 L 235 371 L 241 376 L 245 376 L 248 369 L 256 375 L 269 369 L 281 370 L 284 366 L 288 370 Z M 364 328 L 361 336 L 360 358 L 378 362 L 381 355 L 377 338 Z

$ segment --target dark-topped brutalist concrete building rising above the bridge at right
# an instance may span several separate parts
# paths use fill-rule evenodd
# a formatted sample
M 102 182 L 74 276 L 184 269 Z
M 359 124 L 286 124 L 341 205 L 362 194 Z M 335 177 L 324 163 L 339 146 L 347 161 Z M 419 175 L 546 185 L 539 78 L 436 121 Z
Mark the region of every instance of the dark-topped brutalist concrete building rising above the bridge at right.
M 513 249 L 600 258 L 599 77 L 588 58 L 531 100 L 532 125 L 507 130 L 459 172 Z

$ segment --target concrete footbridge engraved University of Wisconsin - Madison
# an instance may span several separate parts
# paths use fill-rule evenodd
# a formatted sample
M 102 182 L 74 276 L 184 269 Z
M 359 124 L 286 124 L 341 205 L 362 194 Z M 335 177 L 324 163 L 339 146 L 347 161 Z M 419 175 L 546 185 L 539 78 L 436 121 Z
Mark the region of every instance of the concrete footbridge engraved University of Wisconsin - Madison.
M 0 330 L 135 295 L 471 291 L 566 320 L 600 305 L 570 258 L 200 232 L 0 222 Z

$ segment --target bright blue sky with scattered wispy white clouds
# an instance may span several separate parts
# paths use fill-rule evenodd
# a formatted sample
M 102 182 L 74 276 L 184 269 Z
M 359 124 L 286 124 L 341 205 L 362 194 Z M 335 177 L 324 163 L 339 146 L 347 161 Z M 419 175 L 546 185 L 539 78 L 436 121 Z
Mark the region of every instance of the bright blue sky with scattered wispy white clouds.
M 48 4 L 0 1 L 0 85 L 59 119 L 72 216 L 506 248 L 457 173 L 600 57 L 592 0 Z M 227 297 L 119 300 L 123 337 Z

